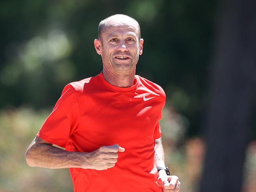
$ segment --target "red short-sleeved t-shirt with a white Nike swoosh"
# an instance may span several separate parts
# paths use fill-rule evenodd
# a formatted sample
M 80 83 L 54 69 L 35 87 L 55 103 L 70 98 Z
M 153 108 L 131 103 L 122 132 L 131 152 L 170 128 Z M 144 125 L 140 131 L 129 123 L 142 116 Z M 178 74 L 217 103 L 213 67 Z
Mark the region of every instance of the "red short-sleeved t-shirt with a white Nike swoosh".
M 70 168 L 75 192 L 160 192 L 154 140 L 164 103 L 163 89 L 145 78 L 122 88 L 100 73 L 65 86 L 37 136 L 68 151 L 125 148 L 113 168 Z

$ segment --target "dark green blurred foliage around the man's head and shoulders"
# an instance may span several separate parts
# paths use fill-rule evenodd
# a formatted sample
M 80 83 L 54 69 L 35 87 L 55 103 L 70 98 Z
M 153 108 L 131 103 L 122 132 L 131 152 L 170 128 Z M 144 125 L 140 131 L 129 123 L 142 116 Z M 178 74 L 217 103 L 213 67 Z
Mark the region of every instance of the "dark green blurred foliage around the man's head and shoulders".
M 98 23 L 116 13 L 141 26 L 145 44 L 137 74 L 161 85 L 167 103 L 189 119 L 187 135 L 198 134 L 215 1 L 2 0 L 0 108 L 53 107 L 67 83 L 98 74 Z

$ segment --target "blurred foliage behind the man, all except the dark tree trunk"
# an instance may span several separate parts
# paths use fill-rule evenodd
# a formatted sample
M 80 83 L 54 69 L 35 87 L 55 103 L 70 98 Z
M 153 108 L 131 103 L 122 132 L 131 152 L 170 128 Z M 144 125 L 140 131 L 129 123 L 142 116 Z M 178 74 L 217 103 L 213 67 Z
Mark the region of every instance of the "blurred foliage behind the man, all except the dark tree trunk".
M 63 87 L 102 70 L 93 40 L 100 20 L 117 13 L 141 26 L 145 44 L 137 74 L 167 94 L 161 120 L 166 164 L 180 177 L 182 191 L 196 191 L 204 142 L 193 137 L 206 112 L 216 3 L 0 1 L 0 191 L 72 191 L 68 169 L 31 168 L 24 154 Z M 247 191 L 256 189 L 253 148 L 255 143 L 247 151 Z

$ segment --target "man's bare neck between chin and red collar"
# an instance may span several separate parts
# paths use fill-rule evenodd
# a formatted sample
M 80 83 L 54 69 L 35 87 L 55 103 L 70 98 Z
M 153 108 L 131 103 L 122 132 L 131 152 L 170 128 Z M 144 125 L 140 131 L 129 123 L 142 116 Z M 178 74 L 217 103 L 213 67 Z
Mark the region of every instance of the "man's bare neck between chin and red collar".
M 131 87 L 134 84 L 135 68 L 131 71 L 113 72 L 103 67 L 104 79 L 116 87 Z

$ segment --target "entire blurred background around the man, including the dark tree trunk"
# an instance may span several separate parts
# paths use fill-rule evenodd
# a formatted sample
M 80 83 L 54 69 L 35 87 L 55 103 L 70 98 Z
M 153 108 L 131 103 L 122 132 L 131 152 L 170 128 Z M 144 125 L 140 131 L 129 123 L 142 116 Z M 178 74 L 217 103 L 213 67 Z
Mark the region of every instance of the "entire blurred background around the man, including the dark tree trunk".
M 2 0 L 0 192 L 72 191 L 26 147 L 63 87 L 102 70 L 93 41 L 117 13 L 141 26 L 136 73 L 167 95 L 165 161 L 181 192 L 256 192 L 256 4 L 251 0 Z

